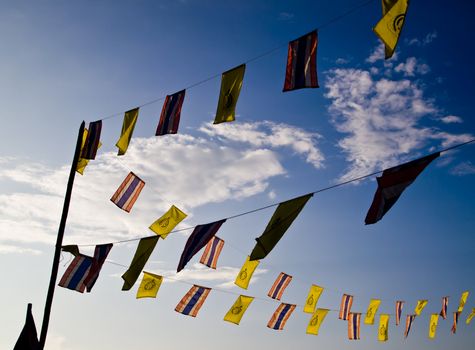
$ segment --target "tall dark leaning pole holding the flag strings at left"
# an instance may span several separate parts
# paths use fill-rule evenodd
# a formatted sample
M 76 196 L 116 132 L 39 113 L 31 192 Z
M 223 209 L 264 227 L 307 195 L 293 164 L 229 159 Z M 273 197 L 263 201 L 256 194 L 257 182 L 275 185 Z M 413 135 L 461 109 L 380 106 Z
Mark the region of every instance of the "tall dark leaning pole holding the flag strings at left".
M 81 152 L 82 136 L 84 133 L 84 125 L 82 122 L 79 127 L 78 139 L 76 142 L 76 150 L 74 151 L 73 163 L 69 172 L 68 186 L 64 197 L 63 212 L 61 214 L 61 222 L 59 223 L 58 237 L 56 238 L 56 247 L 54 250 L 53 267 L 51 268 L 51 278 L 49 280 L 48 295 L 46 296 L 45 312 L 43 314 L 43 324 L 41 325 L 40 350 L 43 350 L 46 342 L 46 334 L 48 333 L 49 317 L 51 314 L 51 304 L 53 303 L 54 287 L 56 286 L 56 278 L 58 277 L 59 258 L 61 255 L 61 246 L 63 245 L 64 229 L 66 227 L 66 219 L 68 218 L 69 202 L 71 201 L 71 193 L 73 191 L 74 176 L 76 175 L 76 167 Z

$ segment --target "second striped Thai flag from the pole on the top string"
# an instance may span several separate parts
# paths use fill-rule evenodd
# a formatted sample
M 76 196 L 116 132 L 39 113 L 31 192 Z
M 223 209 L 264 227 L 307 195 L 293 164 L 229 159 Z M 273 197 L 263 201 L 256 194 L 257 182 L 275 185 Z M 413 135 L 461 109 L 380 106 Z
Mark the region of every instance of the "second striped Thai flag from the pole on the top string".
M 180 124 L 181 106 L 185 100 L 185 90 L 181 90 L 173 95 L 167 95 L 163 103 L 160 121 L 157 126 L 156 136 L 165 134 L 176 134 Z

